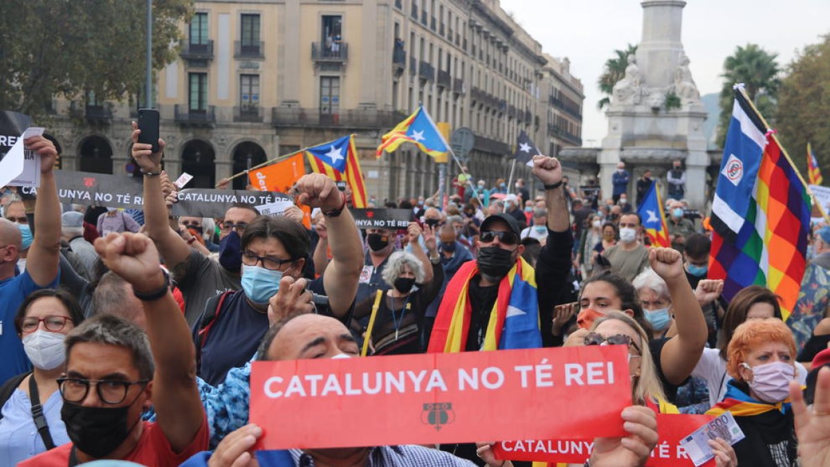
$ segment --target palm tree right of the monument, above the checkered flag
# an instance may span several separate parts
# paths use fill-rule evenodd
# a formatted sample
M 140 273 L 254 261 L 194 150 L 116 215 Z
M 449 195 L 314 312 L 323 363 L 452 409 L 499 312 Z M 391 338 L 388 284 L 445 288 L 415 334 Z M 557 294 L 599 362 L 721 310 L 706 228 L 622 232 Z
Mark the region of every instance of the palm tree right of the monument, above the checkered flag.
M 758 108 L 761 115 L 768 121 L 775 116 L 779 79 L 778 54 L 770 53 L 758 44 L 747 44 L 746 47 L 736 47 L 735 53 L 726 57 L 724 61 L 724 86 L 720 91 L 720 121 L 718 123 L 718 145 L 721 147 L 726 140 L 726 130 L 732 118 L 732 102 L 735 94 L 732 86 L 744 83 L 744 89 Z M 771 123 L 770 123 L 771 125 Z

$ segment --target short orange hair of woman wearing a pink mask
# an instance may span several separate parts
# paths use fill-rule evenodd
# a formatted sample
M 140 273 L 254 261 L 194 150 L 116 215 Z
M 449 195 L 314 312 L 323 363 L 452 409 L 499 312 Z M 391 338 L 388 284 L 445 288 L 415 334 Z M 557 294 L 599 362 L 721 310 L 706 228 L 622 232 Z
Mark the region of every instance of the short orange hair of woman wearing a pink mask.
M 735 328 L 735 334 L 727 350 L 726 370 L 735 381 L 744 381 L 738 372 L 738 366 L 746 361 L 749 352 L 766 342 L 781 342 L 789 347 L 790 355 L 795 358 L 795 340 L 793 332 L 778 318 L 752 319 Z

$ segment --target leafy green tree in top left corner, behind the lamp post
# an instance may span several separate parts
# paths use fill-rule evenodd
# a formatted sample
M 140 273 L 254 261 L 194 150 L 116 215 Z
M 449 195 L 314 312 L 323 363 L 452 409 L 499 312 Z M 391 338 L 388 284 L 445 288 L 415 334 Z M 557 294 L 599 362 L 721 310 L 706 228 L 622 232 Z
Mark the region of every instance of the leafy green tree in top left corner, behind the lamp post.
M 175 59 L 192 15 L 193 0 L 154 0 L 154 70 Z M 41 116 L 53 96 L 123 100 L 143 89 L 145 2 L 2 0 L 0 30 L 0 109 Z

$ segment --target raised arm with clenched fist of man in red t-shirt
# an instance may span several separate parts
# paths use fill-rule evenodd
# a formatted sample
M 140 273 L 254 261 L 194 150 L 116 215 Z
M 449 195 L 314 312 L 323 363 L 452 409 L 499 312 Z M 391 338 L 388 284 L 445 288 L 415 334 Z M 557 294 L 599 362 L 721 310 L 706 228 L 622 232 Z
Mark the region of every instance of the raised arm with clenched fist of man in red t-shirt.
M 205 418 L 196 386 L 196 350 L 188 322 L 179 310 L 159 266 L 159 253 L 144 234 L 109 234 L 95 240 L 95 250 L 136 293 L 166 292 L 142 300 L 147 335 L 156 362 L 153 405 L 156 419 L 174 452 L 193 443 Z

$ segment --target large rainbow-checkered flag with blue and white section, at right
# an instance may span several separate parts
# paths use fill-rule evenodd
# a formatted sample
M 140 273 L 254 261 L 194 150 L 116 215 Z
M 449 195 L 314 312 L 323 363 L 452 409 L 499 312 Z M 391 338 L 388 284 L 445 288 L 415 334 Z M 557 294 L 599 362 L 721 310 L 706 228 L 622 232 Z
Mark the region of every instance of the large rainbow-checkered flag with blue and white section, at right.
M 735 86 L 720 177 L 712 202 L 709 278 L 729 301 L 762 285 L 781 297 L 786 320 L 798 300 L 810 225 L 807 187 L 773 130 Z

